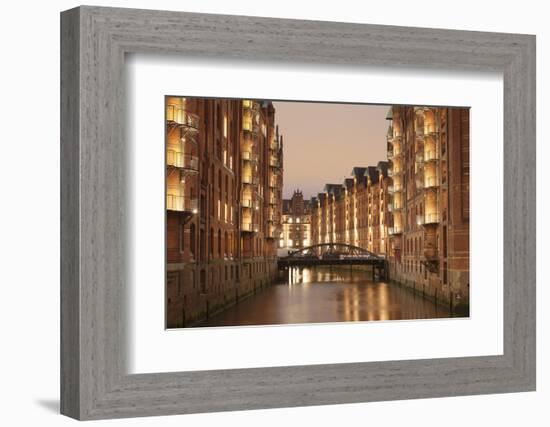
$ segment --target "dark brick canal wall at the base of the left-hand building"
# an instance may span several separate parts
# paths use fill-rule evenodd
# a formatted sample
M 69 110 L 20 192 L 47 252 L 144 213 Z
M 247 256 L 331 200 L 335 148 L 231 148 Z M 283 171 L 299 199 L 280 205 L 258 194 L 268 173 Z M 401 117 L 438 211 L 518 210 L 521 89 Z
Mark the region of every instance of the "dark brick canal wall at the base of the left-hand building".
M 195 326 L 275 283 L 276 258 L 168 264 L 166 326 Z

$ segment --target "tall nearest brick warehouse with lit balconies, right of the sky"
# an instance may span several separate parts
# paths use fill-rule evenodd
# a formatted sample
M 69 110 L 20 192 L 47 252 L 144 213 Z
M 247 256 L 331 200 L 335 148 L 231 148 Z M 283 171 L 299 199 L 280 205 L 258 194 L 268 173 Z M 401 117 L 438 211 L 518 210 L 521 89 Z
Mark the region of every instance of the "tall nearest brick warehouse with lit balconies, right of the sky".
M 393 278 L 456 311 L 469 307 L 469 110 L 388 113 Z

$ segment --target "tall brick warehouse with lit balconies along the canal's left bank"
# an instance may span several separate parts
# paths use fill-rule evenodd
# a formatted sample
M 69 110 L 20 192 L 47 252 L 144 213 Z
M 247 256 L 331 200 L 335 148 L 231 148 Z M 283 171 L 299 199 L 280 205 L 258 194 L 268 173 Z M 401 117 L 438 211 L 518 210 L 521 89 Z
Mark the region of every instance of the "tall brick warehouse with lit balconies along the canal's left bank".
M 166 98 L 167 327 L 276 277 L 282 161 L 271 102 Z

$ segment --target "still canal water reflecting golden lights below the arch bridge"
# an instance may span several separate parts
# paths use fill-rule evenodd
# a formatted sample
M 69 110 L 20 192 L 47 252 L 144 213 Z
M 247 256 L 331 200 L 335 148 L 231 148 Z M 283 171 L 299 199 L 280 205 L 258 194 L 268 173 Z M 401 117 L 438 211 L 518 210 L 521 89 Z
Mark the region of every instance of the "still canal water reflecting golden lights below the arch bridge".
M 448 309 L 371 273 L 316 267 L 294 269 L 272 285 L 198 326 L 276 325 L 451 317 Z

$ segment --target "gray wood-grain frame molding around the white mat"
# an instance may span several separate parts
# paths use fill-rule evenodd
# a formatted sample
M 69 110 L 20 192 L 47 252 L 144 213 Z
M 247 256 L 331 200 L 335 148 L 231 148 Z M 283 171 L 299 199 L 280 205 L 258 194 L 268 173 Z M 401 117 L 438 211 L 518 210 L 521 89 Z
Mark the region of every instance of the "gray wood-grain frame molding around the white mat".
M 125 371 L 124 55 L 504 75 L 502 356 Z M 77 419 L 535 390 L 535 37 L 83 6 L 61 14 L 61 412 Z

